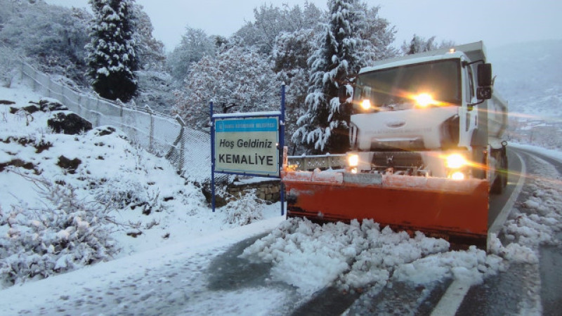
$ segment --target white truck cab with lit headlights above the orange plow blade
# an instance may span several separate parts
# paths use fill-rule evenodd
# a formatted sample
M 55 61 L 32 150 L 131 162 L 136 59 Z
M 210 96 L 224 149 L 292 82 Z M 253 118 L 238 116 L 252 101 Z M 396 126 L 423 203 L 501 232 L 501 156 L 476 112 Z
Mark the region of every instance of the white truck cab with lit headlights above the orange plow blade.
M 507 169 L 507 104 L 482 42 L 363 68 L 352 105 L 350 171 L 492 182 Z

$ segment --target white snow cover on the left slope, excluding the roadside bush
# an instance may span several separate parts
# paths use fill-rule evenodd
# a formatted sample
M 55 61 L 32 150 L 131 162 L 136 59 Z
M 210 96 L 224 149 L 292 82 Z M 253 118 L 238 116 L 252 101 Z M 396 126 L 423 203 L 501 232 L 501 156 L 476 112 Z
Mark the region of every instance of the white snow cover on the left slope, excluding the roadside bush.
M 86 230 L 86 225 L 91 225 L 88 230 L 105 230 L 110 237 L 103 245 L 108 250 L 105 260 L 237 227 L 248 215 L 235 212 L 237 209 L 232 205 L 212 213 L 200 188 L 186 183 L 166 159 L 131 145 L 119 131 L 103 135 L 108 130 L 104 126 L 81 135 L 65 135 L 48 129 L 46 121 L 53 115 L 51 112 L 10 113 L 11 107 L 26 107 L 30 101 L 39 103 L 41 99 L 26 86 L 0 87 L 0 100 L 15 102 L 13 105 L 0 105 L 0 166 L 3 166 L 0 171 L 0 235 L 5 238 L 9 233 L 13 241 L 27 237 L 37 239 L 32 234 L 38 233 L 41 240 L 36 244 L 44 248 L 41 256 L 51 256 L 41 258 L 42 263 L 56 263 L 60 259 L 62 253 L 58 253 L 55 242 L 65 237 L 63 235 L 67 231 L 63 230 L 66 227 L 45 232 L 31 222 L 39 220 L 53 225 L 56 218 L 37 215 L 57 209 L 56 199 L 68 192 L 76 195 L 74 202 L 83 202 L 86 207 L 94 205 L 96 211 L 103 214 L 105 220 L 74 226 L 77 230 L 80 227 Z M 80 163 L 75 170 L 64 169 L 58 165 L 62 156 L 70 160 L 79 159 Z M 57 192 L 53 191 L 59 190 L 58 187 L 68 192 L 55 194 Z M 253 207 L 256 218 L 280 215 L 278 204 L 266 206 L 251 200 L 238 204 L 244 203 Z M 79 219 L 85 220 L 84 216 Z M 55 244 L 55 251 L 49 251 L 48 242 Z M 120 250 L 109 249 L 107 243 L 115 244 L 112 246 L 115 251 Z M 29 256 L 30 251 L 27 250 L 23 251 L 27 253 L 27 258 L 22 258 L 16 251 L 3 253 L 0 246 L 0 255 L 3 255 L 0 259 L 12 256 L 12 265 L 15 261 L 32 265 L 26 261 L 34 262 L 37 258 Z M 80 266 L 79 261 L 74 260 L 76 268 Z M 0 268 L 6 268 L 6 261 L 3 264 Z M 72 267 L 68 269 L 72 270 Z M 4 282 L 4 278 L 0 279 L 3 281 L 1 286 L 10 285 Z M 22 281 L 25 276 L 19 279 Z

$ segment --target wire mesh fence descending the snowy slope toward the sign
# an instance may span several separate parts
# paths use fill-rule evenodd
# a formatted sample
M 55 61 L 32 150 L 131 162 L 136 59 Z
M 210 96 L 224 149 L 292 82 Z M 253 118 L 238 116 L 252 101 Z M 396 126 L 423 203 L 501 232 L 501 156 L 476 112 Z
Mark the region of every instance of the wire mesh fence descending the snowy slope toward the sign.
M 188 180 L 205 183 L 211 177 L 209 133 L 190 129 L 179 117 L 77 91 L 25 62 L 21 63 L 20 79 L 35 92 L 59 100 L 94 127 L 110 125 L 122 130 L 133 144 L 166 157 Z

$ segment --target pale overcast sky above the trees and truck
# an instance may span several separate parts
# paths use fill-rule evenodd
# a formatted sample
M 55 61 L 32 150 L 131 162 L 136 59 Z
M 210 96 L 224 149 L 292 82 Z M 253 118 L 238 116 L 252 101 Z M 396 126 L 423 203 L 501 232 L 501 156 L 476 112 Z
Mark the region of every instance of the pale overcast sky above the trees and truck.
M 89 7 L 88 0 L 46 0 L 49 4 Z M 322 9 L 326 0 L 309 0 Z M 254 18 L 253 9 L 273 3 L 302 5 L 304 1 L 282 0 L 136 0 L 145 8 L 155 27 L 154 36 L 171 51 L 185 27 L 203 29 L 225 37 Z M 398 31 L 395 46 L 410 41 L 413 34 L 457 44 L 483 40 L 488 47 L 521 41 L 562 39 L 561 0 L 367 0 L 380 5 L 379 16 Z

